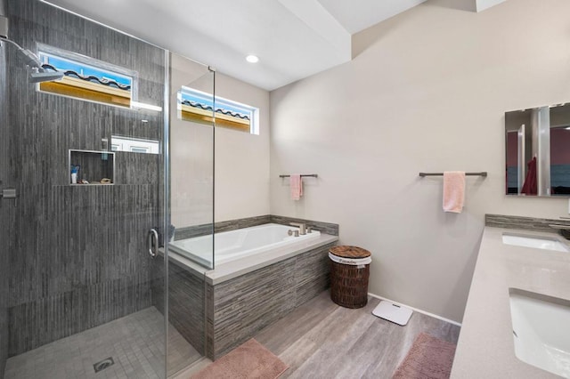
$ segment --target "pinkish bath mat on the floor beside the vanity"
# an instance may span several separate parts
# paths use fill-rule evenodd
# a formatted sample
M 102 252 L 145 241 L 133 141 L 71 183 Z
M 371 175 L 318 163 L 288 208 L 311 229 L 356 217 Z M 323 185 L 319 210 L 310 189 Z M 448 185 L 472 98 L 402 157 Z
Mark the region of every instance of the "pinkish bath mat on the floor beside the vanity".
M 455 345 L 421 333 L 392 379 L 447 379 L 452 372 Z

